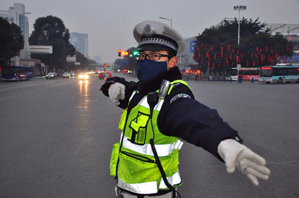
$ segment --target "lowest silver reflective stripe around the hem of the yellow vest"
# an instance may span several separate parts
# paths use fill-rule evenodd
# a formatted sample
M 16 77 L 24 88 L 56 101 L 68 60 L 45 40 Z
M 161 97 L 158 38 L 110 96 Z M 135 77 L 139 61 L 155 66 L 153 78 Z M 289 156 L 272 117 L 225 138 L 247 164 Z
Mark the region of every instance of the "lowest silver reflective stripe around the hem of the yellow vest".
M 170 177 L 167 177 L 167 181 L 171 186 L 178 185 L 181 183 L 181 178 L 179 172 L 176 172 Z M 118 187 L 125 189 L 127 191 L 139 194 L 153 194 L 157 193 L 157 182 L 145 182 L 140 184 L 126 184 L 122 179 L 118 179 Z M 161 182 L 159 185 L 159 189 L 166 189 L 166 185 L 164 184 L 163 179 L 161 178 Z

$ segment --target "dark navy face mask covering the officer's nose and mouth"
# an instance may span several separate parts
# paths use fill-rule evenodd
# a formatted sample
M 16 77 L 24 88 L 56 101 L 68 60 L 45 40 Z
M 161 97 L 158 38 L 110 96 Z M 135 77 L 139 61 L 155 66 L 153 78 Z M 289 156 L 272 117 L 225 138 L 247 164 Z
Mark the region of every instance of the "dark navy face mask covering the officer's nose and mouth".
M 142 82 L 153 80 L 167 72 L 167 61 L 158 62 L 149 59 L 137 61 L 137 78 Z

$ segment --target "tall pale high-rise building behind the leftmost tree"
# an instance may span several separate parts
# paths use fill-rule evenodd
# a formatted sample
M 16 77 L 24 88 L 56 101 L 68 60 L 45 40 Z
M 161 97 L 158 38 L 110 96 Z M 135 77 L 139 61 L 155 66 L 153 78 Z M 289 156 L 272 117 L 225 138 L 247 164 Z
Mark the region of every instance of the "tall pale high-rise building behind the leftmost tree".
M 29 14 L 30 12 L 25 12 L 25 5 L 22 3 L 13 3 L 13 7 L 9 7 L 7 11 L 1 10 L 0 16 L 6 18 L 9 23 L 17 24 L 24 37 L 24 50 L 20 51 L 20 58 L 29 58 L 29 24 L 28 17 L 25 14 Z

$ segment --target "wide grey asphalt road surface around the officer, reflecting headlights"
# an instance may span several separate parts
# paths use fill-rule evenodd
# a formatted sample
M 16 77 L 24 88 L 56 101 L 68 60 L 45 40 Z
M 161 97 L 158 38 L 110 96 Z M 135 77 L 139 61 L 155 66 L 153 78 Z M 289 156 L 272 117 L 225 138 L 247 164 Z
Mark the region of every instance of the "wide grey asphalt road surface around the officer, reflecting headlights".
M 134 77 L 125 76 L 128 80 Z M 114 198 L 109 176 L 122 109 L 103 80 L 0 82 L 0 198 Z M 268 181 L 246 176 L 201 148 L 180 152 L 182 198 L 299 198 L 299 84 L 188 81 L 195 98 L 265 157 Z

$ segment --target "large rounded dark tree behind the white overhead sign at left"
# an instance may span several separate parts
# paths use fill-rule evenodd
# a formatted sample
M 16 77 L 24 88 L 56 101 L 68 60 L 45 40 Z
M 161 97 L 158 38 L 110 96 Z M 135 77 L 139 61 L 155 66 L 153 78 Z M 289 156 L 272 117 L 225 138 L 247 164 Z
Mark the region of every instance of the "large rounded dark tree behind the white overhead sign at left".
M 35 20 L 33 28 L 29 37 L 30 45 L 52 45 L 53 54 L 33 54 L 31 57 L 49 65 L 50 70 L 66 69 L 66 56 L 73 56 L 76 50 L 69 42 L 69 30 L 63 21 L 51 15 L 40 17 Z

